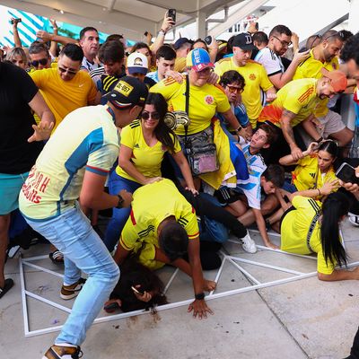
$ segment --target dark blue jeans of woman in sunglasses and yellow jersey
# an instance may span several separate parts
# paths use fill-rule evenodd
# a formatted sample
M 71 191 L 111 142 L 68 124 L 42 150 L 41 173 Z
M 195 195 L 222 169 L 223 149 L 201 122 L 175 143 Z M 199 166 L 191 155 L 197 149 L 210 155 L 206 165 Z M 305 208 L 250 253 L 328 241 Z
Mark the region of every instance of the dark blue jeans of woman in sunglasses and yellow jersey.
M 135 182 L 134 180 L 127 180 L 121 176 L 118 176 L 116 171 L 112 171 L 109 174 L 109 194 L 117 195 L 121 189 L 126 189 L 127 192 L 134 193 L 137 188 L 141 187 L 140 183 Z M 111 252 L 116 244 L 119 241 L 119 236 L 125 227 L 129 214 L 131 212 L 131 207 L 128 208 L 113 208 L 112 218 L 109 220 L 107 226 L 105 238 L 103 242 L 107 249 Z

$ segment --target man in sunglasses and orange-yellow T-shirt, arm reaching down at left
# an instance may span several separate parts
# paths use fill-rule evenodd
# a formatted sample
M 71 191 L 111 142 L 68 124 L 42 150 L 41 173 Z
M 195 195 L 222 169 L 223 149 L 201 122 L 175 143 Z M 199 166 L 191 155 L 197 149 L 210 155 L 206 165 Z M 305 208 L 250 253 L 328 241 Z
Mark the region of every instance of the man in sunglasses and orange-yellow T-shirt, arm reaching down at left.
M 77 45 L 67 44 L 58 57 L 57 68 L 31 73 L 56 118 L 56 127 L 74 109 L 100 102 L 90 75 L 80 71 L 82 60 L 83 50 Z

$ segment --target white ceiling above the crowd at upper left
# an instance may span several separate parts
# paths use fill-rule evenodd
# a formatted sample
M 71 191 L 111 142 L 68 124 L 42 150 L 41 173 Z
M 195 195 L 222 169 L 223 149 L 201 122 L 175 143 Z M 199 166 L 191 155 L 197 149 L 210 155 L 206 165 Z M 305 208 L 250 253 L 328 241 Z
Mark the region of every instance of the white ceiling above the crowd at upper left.
M 164 13 L 177 10 L 177 25 L 194 22 L 197 12 L 206 17 L 242 0 L 0 0 L 0 4 L 35 13 L 59 22 L 93 26 L 107 33 L 122 33 L 128 39 L 144 39 L 144 31 L 156 34 Z M 64 13 L 60 13 L 60 11 Z

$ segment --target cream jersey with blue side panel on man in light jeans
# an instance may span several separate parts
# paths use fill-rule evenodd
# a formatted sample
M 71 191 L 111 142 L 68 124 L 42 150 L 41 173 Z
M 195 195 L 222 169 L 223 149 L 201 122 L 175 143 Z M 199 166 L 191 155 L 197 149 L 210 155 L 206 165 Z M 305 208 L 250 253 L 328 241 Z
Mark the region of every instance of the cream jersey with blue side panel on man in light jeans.
M 75 109 L 45 144 L 22 186 L 22 214 L 43 221 L 73 208 L 80 197 L 84 171 L 107 176 L 118 157 L 118 142 L 117 127 L 107 107 Z

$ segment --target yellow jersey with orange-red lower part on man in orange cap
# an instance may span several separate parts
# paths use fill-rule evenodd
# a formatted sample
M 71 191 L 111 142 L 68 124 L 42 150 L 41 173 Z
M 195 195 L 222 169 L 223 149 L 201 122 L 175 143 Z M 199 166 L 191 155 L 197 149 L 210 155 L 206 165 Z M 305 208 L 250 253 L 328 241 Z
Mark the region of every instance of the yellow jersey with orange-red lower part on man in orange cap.
M 291 126 L 298 125 L 311 115 L 318 101 L 320 101 L 317 96 L 317 82 L 316 79 L 302 79 L 285 84 L 276 92 L 276 100 L 262 109 L 258 122 L 268 121 L 277 127 L 281 127 L 282 112 L 287 109 L 296 114 L 291 121 Z

